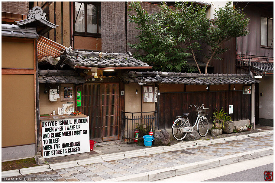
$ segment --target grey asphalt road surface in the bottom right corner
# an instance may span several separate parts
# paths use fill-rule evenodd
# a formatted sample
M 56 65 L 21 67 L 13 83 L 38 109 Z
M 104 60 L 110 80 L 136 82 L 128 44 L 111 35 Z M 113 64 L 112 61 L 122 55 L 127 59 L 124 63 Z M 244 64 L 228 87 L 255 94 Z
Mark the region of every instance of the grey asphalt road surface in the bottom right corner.
M 270 170 L 273 172 L 273 163 L 247 169 L 241 172 L 211 178 L 205 181 L 265 181 L 264 172 Z

